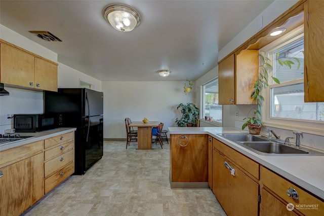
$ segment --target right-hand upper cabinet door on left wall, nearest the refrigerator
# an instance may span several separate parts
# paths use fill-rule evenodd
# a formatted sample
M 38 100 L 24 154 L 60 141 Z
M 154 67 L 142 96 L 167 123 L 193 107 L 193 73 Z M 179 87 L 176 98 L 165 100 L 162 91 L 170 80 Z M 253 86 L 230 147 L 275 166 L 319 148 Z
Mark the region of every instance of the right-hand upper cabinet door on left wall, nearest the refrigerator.
M 35 88 L 57 91 L 57 65 L 35 58 Z

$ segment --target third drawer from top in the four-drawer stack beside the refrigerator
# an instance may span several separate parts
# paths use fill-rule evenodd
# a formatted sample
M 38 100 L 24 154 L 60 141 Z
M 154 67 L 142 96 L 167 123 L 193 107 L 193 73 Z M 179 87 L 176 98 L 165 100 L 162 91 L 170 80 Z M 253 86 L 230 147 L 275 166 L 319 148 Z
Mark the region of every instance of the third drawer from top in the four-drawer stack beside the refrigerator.
M 74 151 L 71 150 L 45 162 L 45 177 L 74 161 Z

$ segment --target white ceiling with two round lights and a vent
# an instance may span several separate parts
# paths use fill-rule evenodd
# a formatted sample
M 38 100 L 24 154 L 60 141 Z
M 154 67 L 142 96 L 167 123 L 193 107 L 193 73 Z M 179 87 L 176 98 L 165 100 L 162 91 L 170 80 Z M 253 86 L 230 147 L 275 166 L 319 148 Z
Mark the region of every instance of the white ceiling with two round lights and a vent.
M 58 54 L 58 61 L 101 81 L 196 80 L 217 65 L 218 51 L 273 0 L 2 1 L 0 23 Z M 112 3 L 141 16 L 131 32 L 103 17 Z M 50 31 L 46 42 L 29 30 Z M 171 70 L 166 78 L 159 69 Z

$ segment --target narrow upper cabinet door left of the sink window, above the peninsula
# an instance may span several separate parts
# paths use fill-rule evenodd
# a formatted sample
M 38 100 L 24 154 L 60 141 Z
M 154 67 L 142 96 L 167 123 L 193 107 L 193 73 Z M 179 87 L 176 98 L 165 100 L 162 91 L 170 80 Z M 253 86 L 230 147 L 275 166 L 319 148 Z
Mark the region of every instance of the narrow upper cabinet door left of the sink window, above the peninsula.
M 219 104 L 235 104 L 235 55 L 218 64 Z

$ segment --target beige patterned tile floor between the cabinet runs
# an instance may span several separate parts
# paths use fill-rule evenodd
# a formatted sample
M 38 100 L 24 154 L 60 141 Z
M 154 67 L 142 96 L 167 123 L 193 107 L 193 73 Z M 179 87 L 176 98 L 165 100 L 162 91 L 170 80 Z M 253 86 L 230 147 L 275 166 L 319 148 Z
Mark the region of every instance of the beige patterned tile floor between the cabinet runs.
M 226 215 L 210 189 L 170 189 L 167 143 L 125 147 L 105 141 L 103 158 L 85 175 L 72 175 L 24 215 Z

